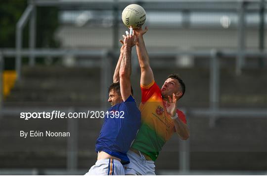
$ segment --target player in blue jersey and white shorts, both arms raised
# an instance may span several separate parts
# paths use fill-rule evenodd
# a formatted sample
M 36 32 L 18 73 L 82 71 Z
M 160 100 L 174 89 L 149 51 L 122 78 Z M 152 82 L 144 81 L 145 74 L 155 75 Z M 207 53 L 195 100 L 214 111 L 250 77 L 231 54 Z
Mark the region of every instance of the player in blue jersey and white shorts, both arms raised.
M 122 42 L 122 41 L 121 41 Z M 113 84 L 109 87 L 111 108 L 105 114 L 95 151 L 97 161 L 86 175 L 125 175 L 123 165 L 130 163 L 127 151 L 140 127 L 141 114 L 131 87 L 131 52 L 136 40 L 133 29 L 124 36 Z

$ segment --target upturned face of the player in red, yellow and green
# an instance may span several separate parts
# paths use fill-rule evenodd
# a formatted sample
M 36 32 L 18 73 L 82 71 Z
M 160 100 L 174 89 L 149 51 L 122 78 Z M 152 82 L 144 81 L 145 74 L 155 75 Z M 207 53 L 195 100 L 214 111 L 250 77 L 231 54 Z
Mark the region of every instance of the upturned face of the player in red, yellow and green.
M 180 83 L 177 79 L 168 78 L 161 88 L 161 95 L 167 98 L 168 96 L 172 97 L 173 94 L 176 94 L 178 97 L 181 94 Z

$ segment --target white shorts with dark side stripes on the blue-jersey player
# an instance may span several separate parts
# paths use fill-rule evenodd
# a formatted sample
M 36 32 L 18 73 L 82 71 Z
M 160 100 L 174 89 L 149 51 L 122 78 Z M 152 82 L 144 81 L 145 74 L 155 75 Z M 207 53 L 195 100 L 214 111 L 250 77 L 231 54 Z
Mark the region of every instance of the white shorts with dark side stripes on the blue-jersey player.
M 85 175 L 125 175 L 125 171 L 119 160 L 101 159 Z

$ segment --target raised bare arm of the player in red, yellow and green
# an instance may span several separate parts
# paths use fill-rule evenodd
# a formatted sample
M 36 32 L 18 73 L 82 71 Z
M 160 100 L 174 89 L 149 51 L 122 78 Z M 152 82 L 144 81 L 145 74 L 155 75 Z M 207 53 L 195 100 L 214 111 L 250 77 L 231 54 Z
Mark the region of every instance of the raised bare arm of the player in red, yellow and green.
M 149 64 L 149 57 L 143 39 L 143 35 L 146 33 L 146 31 L 147 27 L 145 27 L 144 30 L 142 28 L 134 29 L 135 35 L 137 37 L 136 52 L 141 68 L 140 84 L 143 86 L 147 86 L 154 81 L 153 71 Z

